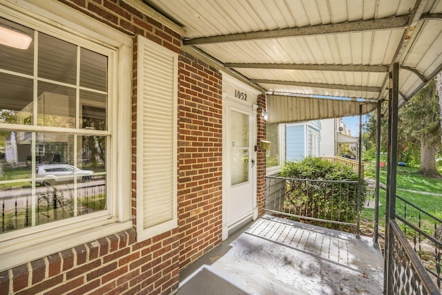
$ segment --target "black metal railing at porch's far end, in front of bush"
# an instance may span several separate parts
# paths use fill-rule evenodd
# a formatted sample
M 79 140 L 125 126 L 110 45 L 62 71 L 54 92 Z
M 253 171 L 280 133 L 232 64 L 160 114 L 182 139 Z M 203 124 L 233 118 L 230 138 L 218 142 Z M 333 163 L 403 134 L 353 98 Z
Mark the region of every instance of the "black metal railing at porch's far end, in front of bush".
M 266 176 L 265 209 L 294 218 L 356 227 L 358 234 L 361 218 L 358 181 Z

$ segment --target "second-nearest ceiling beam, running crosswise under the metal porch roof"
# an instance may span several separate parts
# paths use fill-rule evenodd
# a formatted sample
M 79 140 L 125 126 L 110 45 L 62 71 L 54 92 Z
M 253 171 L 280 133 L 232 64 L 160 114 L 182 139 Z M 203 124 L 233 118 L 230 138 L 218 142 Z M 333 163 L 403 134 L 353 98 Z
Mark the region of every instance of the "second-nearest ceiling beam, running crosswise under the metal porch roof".
M 388 73 L 389 66 L 339 65 L 339 64 L 242 64 L 227 63 L 226 68 L 265 68 L 275 70 L 331 70 L 338 72 Z

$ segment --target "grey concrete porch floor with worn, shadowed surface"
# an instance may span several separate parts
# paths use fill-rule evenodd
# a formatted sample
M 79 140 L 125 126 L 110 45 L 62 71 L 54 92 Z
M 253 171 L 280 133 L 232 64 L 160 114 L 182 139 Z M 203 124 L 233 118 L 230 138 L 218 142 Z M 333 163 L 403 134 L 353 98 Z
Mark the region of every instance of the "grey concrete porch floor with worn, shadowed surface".
M 372 238 L 266 215 L 180 277 L 180 295 L 383 294 L 383 257 Z

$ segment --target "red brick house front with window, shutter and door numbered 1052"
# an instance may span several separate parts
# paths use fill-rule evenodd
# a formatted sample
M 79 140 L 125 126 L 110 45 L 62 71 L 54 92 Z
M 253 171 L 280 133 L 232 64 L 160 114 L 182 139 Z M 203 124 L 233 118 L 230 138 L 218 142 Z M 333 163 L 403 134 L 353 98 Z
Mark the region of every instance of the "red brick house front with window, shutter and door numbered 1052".
M 136 0 L 0 6 L 30 41 L 0 45 L 0 294 L 169 294 L 264 213 L 265 95 L 180 26 Z M 41 162 L 95 177 L 41 187 Z

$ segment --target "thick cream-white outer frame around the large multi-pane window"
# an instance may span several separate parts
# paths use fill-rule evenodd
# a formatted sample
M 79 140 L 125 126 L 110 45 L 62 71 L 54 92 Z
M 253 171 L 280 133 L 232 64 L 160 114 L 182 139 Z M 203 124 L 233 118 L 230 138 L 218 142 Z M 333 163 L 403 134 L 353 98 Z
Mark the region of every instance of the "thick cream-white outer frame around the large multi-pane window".
M 132 228 L 131 60 L 132 40 L 103 23 L 54 0 L 0 0 L 0 17 L 73 44 L 110 60 L 108 111 L 108 209 L 0 234 L 0 271 Z M 91 29 L 93 28 L 93 29 Z M 0 124 L 1 129 L 27 127 Z M 50 132 L 51 127 L 39 127 Z M 57 129 L 59 130 L 59 129 Z M 66 132 L 73 132 L 66 129 Z M 118 180 L 118 181 L 115 181 Z

